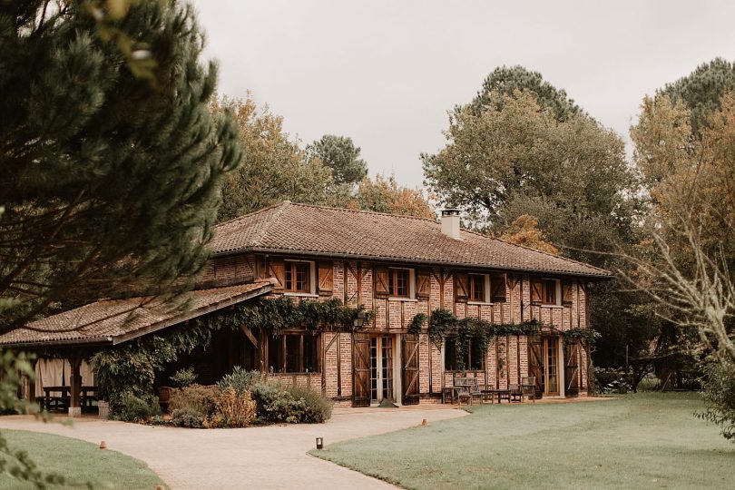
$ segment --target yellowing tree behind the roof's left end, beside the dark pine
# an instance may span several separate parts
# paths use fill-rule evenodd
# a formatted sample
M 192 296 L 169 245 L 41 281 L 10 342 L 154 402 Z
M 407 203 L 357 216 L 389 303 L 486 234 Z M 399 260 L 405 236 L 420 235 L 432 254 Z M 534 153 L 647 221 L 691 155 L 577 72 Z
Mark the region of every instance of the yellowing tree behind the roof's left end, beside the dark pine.
M 249 97 L 214 103 L 213 113 L 230 110 L 239 123 L 244 153 L 238 171 L 222 187 L 219 220 L 230 220 L 279 201 L 329 204 L 334 194 L 332 171 L 309 159 L 299 142 L 283 131 L 283 118 L 268 106 L 258 109 Z

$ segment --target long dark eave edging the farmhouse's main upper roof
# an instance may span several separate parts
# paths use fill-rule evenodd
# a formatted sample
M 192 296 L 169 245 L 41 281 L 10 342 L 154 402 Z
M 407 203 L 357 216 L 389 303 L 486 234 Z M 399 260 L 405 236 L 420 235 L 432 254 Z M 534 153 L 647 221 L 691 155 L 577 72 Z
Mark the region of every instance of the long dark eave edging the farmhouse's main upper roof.
M 496 267 L 496 266 L 483 266 L 483 265 L 477 265 L 477 264 L 470 264 L 470 263 L 462 263 L 462 262 L 450 262 L 445 260 L 412 260 L 412 259 L 403 259 L 400 257 L 378 257 L 374 255 L 362 255 L 362 254 L 352 254 L 352 253 L 334 253 L 334 252 L 322 252 L 322 251 L 314 251 L 314 250 L 293 250 L 293 249 L 271 249 L 266 247 L 246 247 L 239 250 L 225 250 L 221 252 L 214 252 L 212 255 L 215 257 L 227 257 L 230 255 L 240 255 L 242 253 L 248 253 L 248 252 L 254 252 L 254 253 L 277 253 L 281 255 L 305 255 L 309 257 L 327 257 L 330 259 L 351 259 L 351 260 L 378 260 L 383 262 L 407 262 L 410 264 L 417 264 L 417 265 L 423 265 L 423 264 L 429 264 L 429 265 L 436 265 L 436 266 L 443 266 L 443 267 L 461 267 L 466 269 L 483 269 L 483 270 L 498 270 L 498 271 L 504 271 L 504 270 L 511 270 L 514 272 L 531 272 L 534 274 L 556 274 L 560 276 L 571 276 L 575 278 L 585 278 L 585 279 L 592 279 L 592 280 L 611 280 L 615 279 L 615 276 L 612 273 L 608 273 L 606 275 L 604 274 L 585 274 L 583 272 L 562 272 L 557 270 L 541 270 L 541 269 L 534 269 L 534 268 L 518 268 L 518 267 Z

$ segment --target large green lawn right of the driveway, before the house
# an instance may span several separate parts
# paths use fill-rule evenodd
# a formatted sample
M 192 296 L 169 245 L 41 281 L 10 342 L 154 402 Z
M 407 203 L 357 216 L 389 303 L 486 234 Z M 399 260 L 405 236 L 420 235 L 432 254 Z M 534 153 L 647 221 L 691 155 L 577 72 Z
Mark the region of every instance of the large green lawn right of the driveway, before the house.
M 486 405 L 311 451 L 407 488 L 733 488 L 735 445 L 696 394 Z

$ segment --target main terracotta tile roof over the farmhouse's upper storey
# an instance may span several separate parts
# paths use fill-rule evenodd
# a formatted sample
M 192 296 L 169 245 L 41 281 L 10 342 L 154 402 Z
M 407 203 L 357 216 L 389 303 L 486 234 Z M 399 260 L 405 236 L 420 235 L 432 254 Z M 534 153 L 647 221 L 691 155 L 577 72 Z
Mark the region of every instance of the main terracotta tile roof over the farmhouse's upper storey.
M 608 270 L 473 231 L 455 240 L 436 220 L 285 201 L 217 227 L 216 255 L 240 251 L 408 261 L 493 270 L 610 278 Z

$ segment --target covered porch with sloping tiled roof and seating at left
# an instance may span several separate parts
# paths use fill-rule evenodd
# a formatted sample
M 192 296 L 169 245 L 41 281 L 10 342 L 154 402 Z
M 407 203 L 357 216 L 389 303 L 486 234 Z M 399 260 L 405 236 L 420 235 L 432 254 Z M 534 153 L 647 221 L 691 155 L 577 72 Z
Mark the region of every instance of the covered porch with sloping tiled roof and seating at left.
M 22 395 L 42 408 L 81 417 L 102 405 L 88 360 L 103 348 L 140 341 L 166 328 L 256 299 L 273 289 L 270 280 L 196 289 L 175 303 L 152 297 L 107 299 L 36 320 L 0 335 L 0 348 L 35 355 L 36 379 Z

